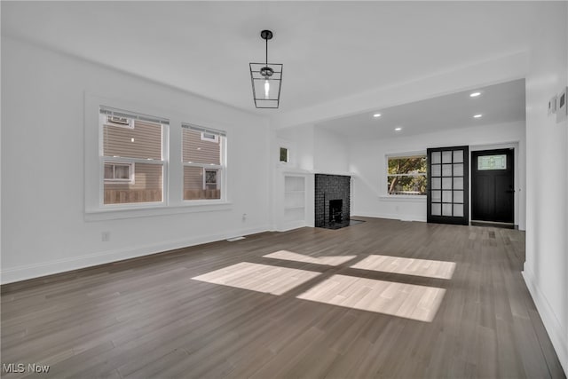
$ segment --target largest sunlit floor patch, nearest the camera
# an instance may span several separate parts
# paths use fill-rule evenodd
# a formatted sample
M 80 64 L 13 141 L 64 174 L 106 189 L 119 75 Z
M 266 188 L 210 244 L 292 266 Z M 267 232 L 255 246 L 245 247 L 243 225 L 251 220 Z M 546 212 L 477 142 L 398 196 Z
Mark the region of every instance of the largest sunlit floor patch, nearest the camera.
M 445 293 L 444 288 L 333 275 L 296 297 L 430 322 Z

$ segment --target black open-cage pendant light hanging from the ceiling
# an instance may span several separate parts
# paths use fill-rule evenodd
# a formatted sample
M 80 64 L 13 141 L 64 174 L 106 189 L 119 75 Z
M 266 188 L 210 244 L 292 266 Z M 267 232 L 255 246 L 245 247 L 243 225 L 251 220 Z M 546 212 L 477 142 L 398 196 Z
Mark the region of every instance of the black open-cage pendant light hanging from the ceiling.
M 277 108 L 280 106 L 280 88 L 282 68 L 280 63 L 268 63 L 268 40 L 272 39 L 272 31 L 263 30 L 260 37 L 266 41 L 264 63 L 249 63 L 252 97 L 257 108 Z

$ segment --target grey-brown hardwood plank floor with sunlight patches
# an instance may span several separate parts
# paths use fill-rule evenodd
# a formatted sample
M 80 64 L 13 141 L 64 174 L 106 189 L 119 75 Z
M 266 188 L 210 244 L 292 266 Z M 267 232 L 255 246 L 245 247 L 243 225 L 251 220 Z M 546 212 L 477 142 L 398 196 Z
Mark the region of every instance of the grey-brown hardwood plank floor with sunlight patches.
M 564 377 L 523 232 L 363 219 L 4 285 L 3 377 Z

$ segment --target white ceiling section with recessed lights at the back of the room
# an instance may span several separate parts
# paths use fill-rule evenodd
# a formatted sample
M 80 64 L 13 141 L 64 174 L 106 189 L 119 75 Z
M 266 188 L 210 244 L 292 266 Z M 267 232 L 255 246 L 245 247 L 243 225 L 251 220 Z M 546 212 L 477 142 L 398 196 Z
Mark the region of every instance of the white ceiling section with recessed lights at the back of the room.
M 474 92 L 481 95 L 471 98 Z M 381 114 L 374 117 L 374 114 Z M 474 118 L 476 114 L 481 117 Z M 319 122 L 349 138 L 393 138 L 525 120 L 525 79 Z M 395 130 L 400 128 L 400 130 Z

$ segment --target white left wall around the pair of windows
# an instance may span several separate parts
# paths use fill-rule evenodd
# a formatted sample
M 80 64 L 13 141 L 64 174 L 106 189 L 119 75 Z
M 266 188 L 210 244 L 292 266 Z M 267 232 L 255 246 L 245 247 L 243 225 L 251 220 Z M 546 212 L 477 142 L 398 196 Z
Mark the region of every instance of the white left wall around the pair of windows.
M 83 142 L 98 143 L 83 141 L 85 91 L 175 114 L 173 136 L 180 119 L 227 130 L 230 203 L 85 217 Z M 264 118 L 5 37 L 2 92 L 3 283 L 270 229 Z

